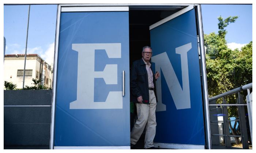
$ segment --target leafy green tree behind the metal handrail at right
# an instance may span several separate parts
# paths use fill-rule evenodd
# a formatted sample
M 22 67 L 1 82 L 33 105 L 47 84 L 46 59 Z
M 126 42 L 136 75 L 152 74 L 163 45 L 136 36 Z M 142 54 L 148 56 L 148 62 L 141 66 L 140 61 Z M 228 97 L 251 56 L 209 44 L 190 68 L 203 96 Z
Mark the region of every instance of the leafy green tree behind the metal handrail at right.
M 214 32 L 209 35 L 204 34 L 204 44 L 206 47 L 206 71 L 208 94 L 210 97 L 225 93 L 229 90 L 246 85 L 252 82 L 252 41 L 241 50 L 231 50 L 227 47 L 225 36 L 227 31 L 225 27 L 229 23 L 234 23 L 238 16 L 230 16 L 223 20 L 219 16 L 218 34 Z M 243 94 L 246 95 L 247 92 Z M 225 97 L 227 103 L 236 103 L 236 95 Z M 245 98 L 245 96 L 244 96 Z M 222 99 L 218 99 L 217 103 L 222 103 Z M 229 108 L 229 117 L 238 119 L 237 107 Z M 230 123 L 230 122 L 229 122 Z M 238 135 L 235 122 L 234 128 L 230 129 L 233 135 Z M 238 137 L 235 137 L 236 144 L 240 143 Z

